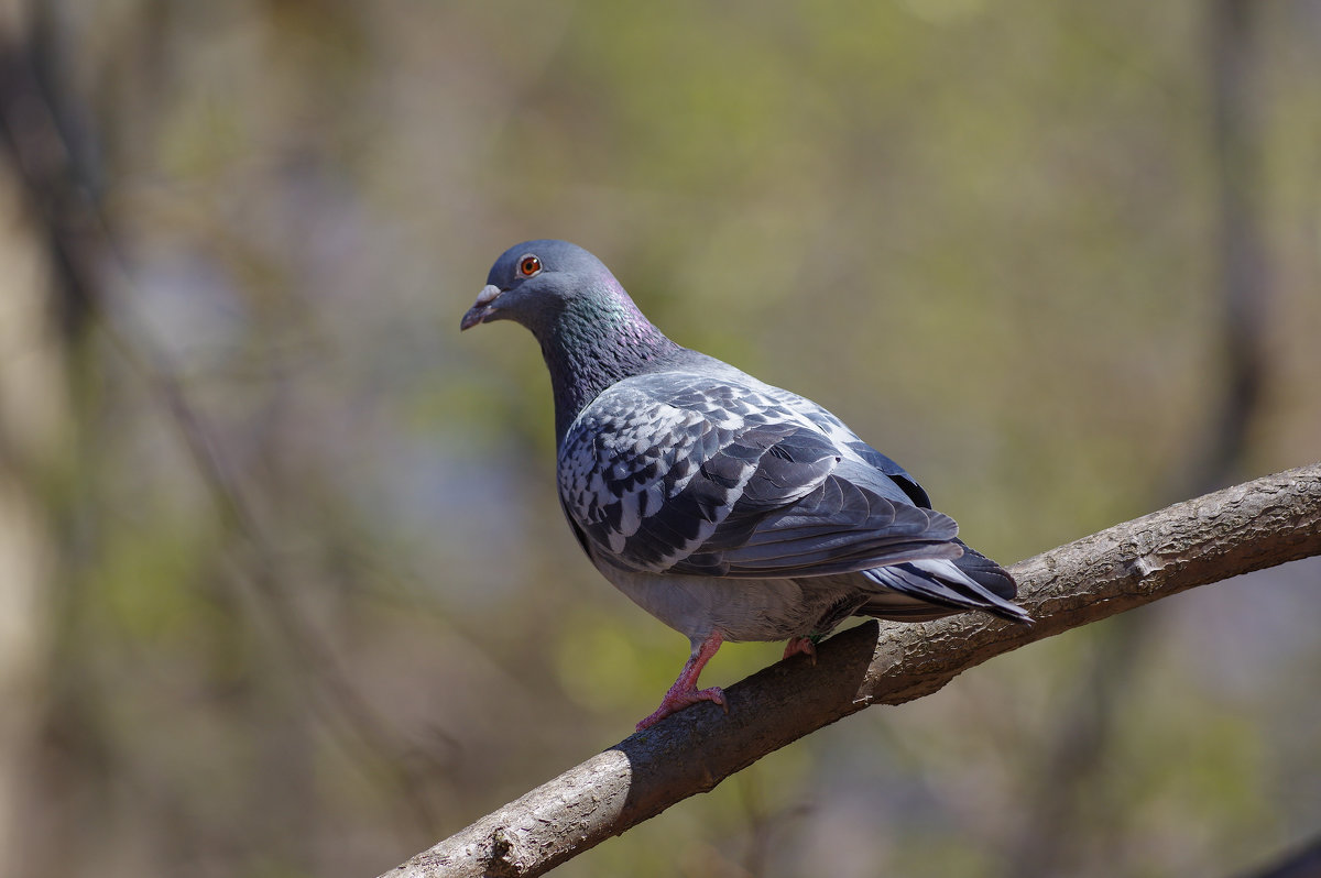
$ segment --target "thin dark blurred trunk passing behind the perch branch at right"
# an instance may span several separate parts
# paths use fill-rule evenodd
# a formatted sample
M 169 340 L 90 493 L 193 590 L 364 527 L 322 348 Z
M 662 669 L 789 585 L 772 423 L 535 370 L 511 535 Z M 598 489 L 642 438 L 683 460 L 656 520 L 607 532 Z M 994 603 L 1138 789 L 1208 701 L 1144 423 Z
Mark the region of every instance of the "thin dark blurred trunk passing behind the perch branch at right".
M 1205 428 L 1189 454 L 1190 469 L 1168 485 L 1168 502 L 1232 483 L 1243 471 L 1252 425 L 1262 411 L 1268 378 L 1266 323 L 1269 281 L 1262 239 L 1260 116 L 1256 88 L 1254 30 L 1256 0 L 1213 0 L 1206 15 L 1206 87 L 1211 108 L 1207 139 L 1214 152 L 1217 223 L 1214 246 L 1219 257 L 1221 304 L 1218 333 L 1210 337 L 1223 370 L 1223 380 L 1207 399 Z M 1046 745 L 1044 768 L 1018 819 L 1018 834 L 1001 871 L 1011 875 L 1049 875 L 1070 871 L 1078 854 L 1078 828 L 1086 812 L 1124 813 L 1120 803 L 1100 801 L 1110 788 L 1099 783 L 1100 767 L 1118 727 L 1116 694 L 1144 667 L 1141 655 L 1164 630 L 1164 615 L 1145 613 L 1116 619 L 1098 631 L 1074 687 L 1070 702 Z M 1089 825 L 1090 832 L 1112 830 Z

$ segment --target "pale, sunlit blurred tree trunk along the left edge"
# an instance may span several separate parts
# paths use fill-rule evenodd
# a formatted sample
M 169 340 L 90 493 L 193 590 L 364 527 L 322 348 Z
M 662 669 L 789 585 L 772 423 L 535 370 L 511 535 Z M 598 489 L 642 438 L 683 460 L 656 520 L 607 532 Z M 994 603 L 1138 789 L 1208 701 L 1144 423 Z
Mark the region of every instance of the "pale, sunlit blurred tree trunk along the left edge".
M 29 182 L 59 164 L 33 92 L 21 9 L 0 7 L 0 873 L 30 874 L 44 796 L 41 750 L 52 581 L 58 543 L 50 495 L 70 438 L 69 312 Z

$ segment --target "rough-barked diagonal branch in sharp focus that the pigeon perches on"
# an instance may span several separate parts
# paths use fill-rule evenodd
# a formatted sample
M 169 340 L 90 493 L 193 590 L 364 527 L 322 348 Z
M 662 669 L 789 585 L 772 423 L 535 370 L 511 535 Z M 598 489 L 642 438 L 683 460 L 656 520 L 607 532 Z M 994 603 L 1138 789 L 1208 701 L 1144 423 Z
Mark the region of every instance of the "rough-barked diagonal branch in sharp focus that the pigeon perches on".
M 382 878 L 540 875 L 873 704 L 935 692 L 987 659 L 1231 576 L 1321 555 L 1321 463 L 1177 503 L 1016 564 L 1032 627 L 980 615 L 869 622 L 600 753 Z M 885 636 L 881 636 L 884 631 Z

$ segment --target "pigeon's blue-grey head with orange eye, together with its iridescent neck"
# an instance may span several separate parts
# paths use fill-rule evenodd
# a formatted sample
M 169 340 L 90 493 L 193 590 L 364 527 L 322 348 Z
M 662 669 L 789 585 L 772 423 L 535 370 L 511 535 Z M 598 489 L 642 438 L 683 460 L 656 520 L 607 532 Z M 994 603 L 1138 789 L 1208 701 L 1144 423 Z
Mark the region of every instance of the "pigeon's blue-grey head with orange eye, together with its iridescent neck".
M 601 260 L 563 240 L 528 240 L 501 253 L 458 326 L 497 320 L 522 323 L 540 343 L 557 438 L 606 387 L 684 351 L 642 316 Z

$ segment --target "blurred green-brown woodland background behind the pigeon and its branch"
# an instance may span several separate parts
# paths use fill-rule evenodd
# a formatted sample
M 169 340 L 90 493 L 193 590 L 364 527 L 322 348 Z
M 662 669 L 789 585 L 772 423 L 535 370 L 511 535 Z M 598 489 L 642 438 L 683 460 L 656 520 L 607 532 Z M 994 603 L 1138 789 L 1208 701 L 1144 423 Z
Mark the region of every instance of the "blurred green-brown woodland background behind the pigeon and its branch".
M 687 642 L 581 557 L 565 238 L 1012 562 L 1321 457 L 1321 1 L 0 1 L 0 873 L 375 875 Z M 1321 565 L 828 727 L 563 875 L 1238 875 Z M 729 684 L 779 644 L 721 650 Z

